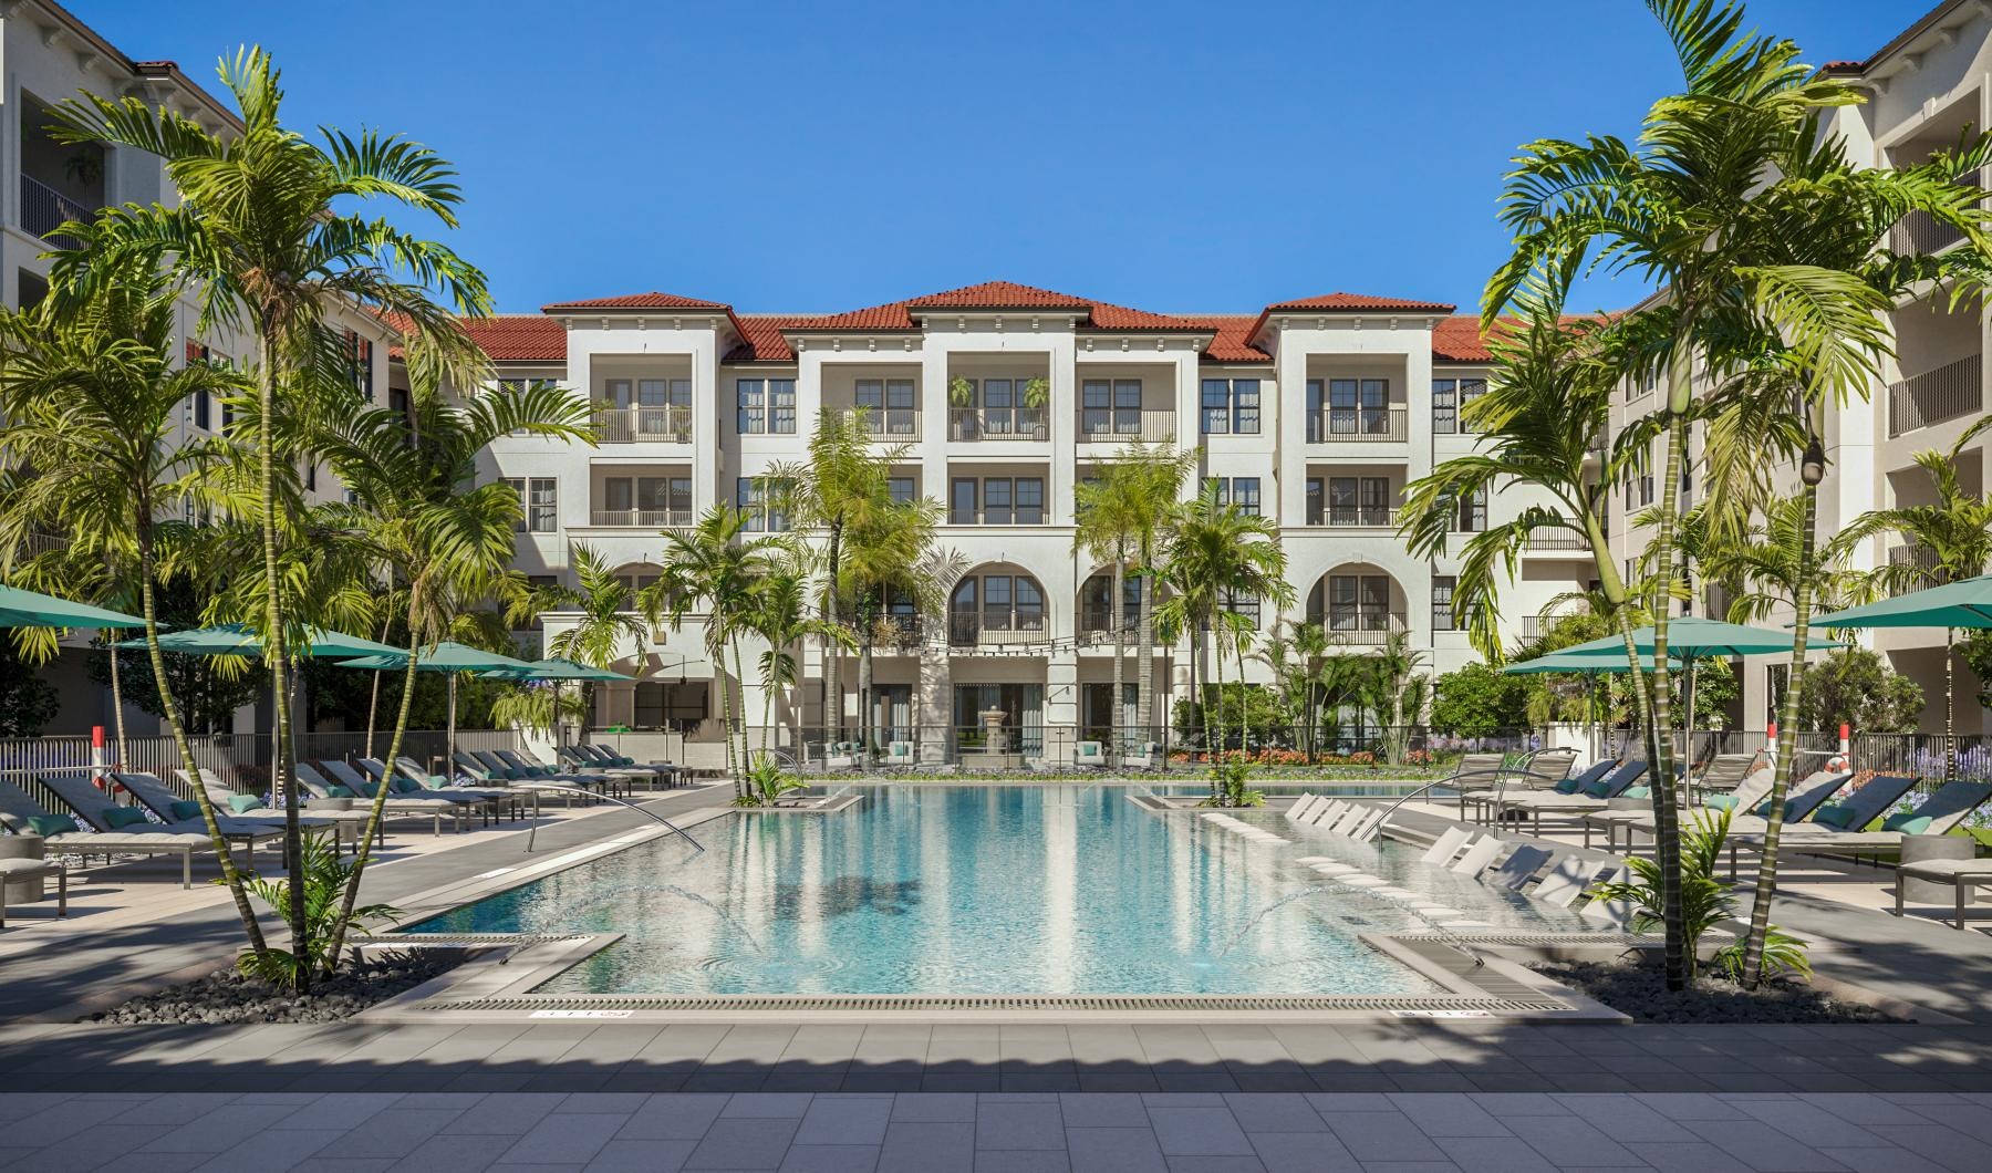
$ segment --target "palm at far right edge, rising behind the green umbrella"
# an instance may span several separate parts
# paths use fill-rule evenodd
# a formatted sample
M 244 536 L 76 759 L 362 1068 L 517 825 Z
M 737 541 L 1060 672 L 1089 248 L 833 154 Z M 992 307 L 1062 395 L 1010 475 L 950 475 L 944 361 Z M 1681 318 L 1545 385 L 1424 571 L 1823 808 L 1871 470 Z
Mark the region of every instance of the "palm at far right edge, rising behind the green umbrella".
M 1910 558 L 1874 572 L 1878 586 L 1912 591 L 1992 572 L 1992 494 L 1970 494 L 1958 480 L 1958 458 L 1972 436 L 1958 438 L 1950 452 L 1916 452 L 1916 466 L 1930 478 L 1936 502 L 1870 510 L 1841 530 L 1839 538 L 1863 542 L 1876 534 L 1900 534 L 1910 542 Z M 1956 629 L 1944 629 L 1944 781 L 1958 773 Z

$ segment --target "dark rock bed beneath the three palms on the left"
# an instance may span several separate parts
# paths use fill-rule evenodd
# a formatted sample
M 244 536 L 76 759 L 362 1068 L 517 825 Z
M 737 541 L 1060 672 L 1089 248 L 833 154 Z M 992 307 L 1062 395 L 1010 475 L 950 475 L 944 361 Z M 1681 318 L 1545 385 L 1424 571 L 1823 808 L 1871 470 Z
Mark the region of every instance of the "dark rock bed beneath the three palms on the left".
M 275 990 L 235 970 L 141 994 L 78 1022 L 337 1022 L 376 1002 L 442 976 L 464 960 L 462 950 L 414 950 L 357 962 L 337 978 L 319 980 L 311 994 Z

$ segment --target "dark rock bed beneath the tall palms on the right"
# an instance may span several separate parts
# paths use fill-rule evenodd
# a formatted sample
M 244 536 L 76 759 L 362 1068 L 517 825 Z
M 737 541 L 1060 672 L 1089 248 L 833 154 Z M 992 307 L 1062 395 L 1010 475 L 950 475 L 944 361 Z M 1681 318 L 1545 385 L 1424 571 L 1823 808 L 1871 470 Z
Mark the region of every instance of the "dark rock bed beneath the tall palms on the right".
M 1803 982 L 1767 978 L 1745 990 L 1703 966 L 1691 990 L 1667 990 L 1657 956 L 1619 962 L 1530 962 L 1532 970 L 1582 990 L 1635 1022 L 1904 1022 L 1894 1014 L 1833 998 Z

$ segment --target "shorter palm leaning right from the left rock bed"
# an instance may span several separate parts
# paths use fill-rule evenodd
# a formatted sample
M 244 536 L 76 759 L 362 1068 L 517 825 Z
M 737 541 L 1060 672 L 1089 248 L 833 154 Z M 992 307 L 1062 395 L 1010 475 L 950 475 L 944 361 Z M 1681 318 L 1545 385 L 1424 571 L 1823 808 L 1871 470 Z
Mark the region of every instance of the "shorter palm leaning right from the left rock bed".
M 478 611 L 476 603 L 518 589 L 510 566 L 520 500 L 504 482 L 474 484 L 478 454 L 518 432 L 594 442 L 588 404 L 554 384 L 498 384 L 450 402 L 440 388 L 444 364 L 424 360 L 424 347 L 426 339 L 410 339 L 406 412 L 363 410 L 321 438 L 327 462 L 351 494 L 351 504 L 323 506 L 323 512 L 365 552 L 365 566 L 388 568 L 406 603 L 408 663 L 384 761 L 400 757 L 422 649 L 460 629 L 464 617 Z M 474 370 L 460 374 L 474 376 Z M 374 793 L 333 930 L 333 958 L 353 918 L 386 793 L 386 787 Z

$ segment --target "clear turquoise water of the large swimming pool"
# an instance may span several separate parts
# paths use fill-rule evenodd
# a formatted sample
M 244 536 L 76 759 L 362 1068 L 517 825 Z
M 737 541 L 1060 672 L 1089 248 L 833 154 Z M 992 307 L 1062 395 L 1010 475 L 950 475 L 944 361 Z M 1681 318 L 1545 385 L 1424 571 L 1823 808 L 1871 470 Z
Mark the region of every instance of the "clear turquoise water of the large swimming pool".
M 408 932 L 622 932 L 542 992 L 1422 994 L 1361 932 L 1424 928 L 1293 862 L 1347 858 L 1492 924 L 1574 918 L 1301 832 L 1251 846 L 1127 787 L 863 787 L 843 815 L 733 815 Z

